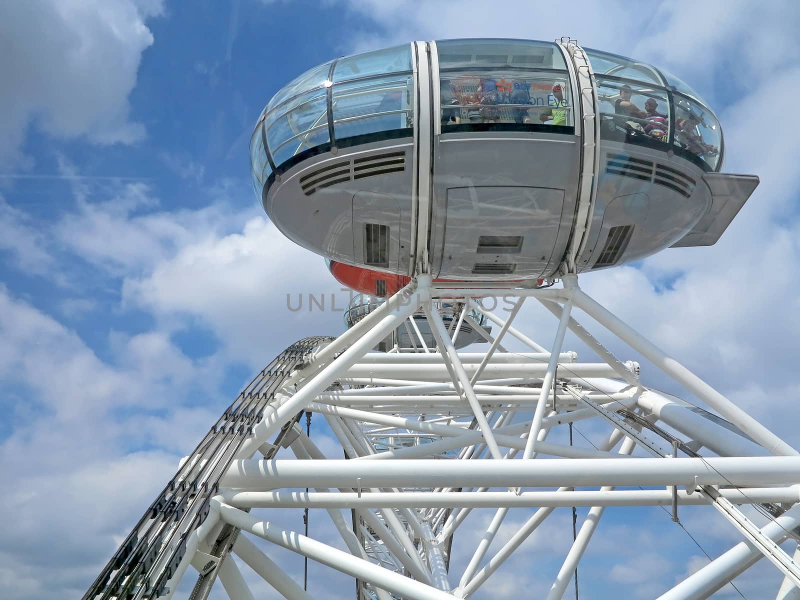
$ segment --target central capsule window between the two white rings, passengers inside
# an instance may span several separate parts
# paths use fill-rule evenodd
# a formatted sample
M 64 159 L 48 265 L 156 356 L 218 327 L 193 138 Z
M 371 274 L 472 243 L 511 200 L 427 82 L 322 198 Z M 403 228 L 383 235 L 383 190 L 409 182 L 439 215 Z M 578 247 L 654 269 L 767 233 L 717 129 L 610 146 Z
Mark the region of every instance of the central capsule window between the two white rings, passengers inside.
M 442 131 L 483 123 L 574 126 L 570 78 L 555 44 L 446 40 L 436 48 Z

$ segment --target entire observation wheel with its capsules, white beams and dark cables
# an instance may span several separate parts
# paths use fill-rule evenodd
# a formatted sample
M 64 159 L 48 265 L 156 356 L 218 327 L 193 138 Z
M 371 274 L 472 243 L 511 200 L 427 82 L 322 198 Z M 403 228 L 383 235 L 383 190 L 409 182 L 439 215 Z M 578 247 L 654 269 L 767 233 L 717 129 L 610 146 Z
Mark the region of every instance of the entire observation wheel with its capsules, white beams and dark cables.
M 637 98 L 666 112 L 642 116 Z M 258 120 L 258 197 L 340 280 L 385 301 L 359 302 L 338 338 L 301 340 L 258 374 L 84 600 L 178 597 L 190 575 L 188 598 L 219 582 L 250 600 L 230 554 L 307 600 L 272 558 L 286 552 L 353 578 L 356 600 L 494 598 L 498 570 L 536 552 L 529 538 L 554 512 L 587 508 L 558 569 L 537 573 L 552 582 L 539 597 L 558 600 L 606 507 L 679 521 L 684 505 L 742 541 L 658 598 L 708 598 L 762 559 L 775 567 L 765 590 L 800 598 L 798 451 L 578 282 L 714 243 L 758 185 L 720 172 L 722 151 L 686 84 L 567 38 L 412 42 L 303 74 Z M 552 314 L 554 336 L 522 322 L 526 303 Z M 486 345 L 462 347 L 464 332 Z M 686 399 L 647 386 L 648 369 Z M 345 458 L 314 443 L 303 414 Z M 578 427 L 602 440 L 573 438 Z M 280 511 L 298 508 L 325 510 L 341 539 L 286 529 Z M 488 526 L 476 509 L 494 510 Z M 524 522 L 502 539 L 509 514 Z

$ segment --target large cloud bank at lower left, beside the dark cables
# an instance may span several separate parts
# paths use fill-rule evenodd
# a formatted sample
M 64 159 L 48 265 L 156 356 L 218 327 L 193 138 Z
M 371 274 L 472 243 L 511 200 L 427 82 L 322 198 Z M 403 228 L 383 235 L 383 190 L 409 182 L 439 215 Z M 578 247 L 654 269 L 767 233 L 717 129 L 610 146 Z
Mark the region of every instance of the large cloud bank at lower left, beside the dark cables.
M 74 331 L 0 289 L 2 406 L 12 427 L 0 441 L 10 482 L 0 510 L 15 515 L 0 536 L 0 581 L 11 598 L 82 594 L 177 469 L 185 446 L 175 444 L 209 426 L 207 410 L 182 406 L 178 384 L 190 366 L 178 350 L 150 334 L 121 352 L 124 366 L 98 358 Z M 166 435 L 158 425 L 170 420 Z

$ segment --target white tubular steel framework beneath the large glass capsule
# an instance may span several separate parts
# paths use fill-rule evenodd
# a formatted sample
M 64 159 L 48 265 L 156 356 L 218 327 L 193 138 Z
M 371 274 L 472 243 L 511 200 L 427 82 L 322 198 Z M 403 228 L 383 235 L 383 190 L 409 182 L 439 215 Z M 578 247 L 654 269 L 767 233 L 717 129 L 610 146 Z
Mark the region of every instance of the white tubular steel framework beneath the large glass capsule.
M 671 506 L 679 514 L 682 505 L 709 505 L 743 541 L 659 598 L 706 598 L 760 558 L 778 567 L 774 587 L 784 590 L 778 598 L 794 598 L 798 556 L 780 544 L 800 531 L 798 452 L 600 306 L 575 276 L 567 276 L 563 288 L 518 290 L 513 298 L 515 306 L 540 302 L 558 318 L 550 350 L 514 328 L 513 312 L 506 320 L 491 315 L 500 329 L 490 336 L 490 351 L 457 352 L 433 309 L 438 298 L 462 298 L 465 312 L 486 312 L 481 298 L 510 293 L 438 288 L 421 275 L 310 356 L 230 462 L 211 503 L 210 521 L 218 519 L 218 526 L 202 528 L 186 565 L 207 566 L 219 523 L 227 523 L 241 530 L 234 554 L 286 598 L 310 598 L 270 558 L 286 550 L 355 578 L 358 600 L 469 598 L 479 590 L 491 594 L 494 573 L 514 552 L 532 550 L 530 543 L 525 550 L 519 546 L 554 510 L 590 506 L 550 590 L 543 592 L 552 600 L 564 596 L 591 538 L 602 534 L 607 506 Z M 647 388 L 638 364 L 618 360 L 573 309 L 722 418 Z M 436 334 L 430 353 L 370 351 L 418 310 L 426 312 Z M 580 362 L 562 350 L 566 330 L 596 351 L 597 362 Z M 502 344 L 510 337 L 528 350 L 508 352 Z M 349 460 L 323 454 L 298 424 L 282 443 L 303 460 L 256 459 L 259 450 L 273 447 L 275 434 L 298 410 L 325 418 Z M 554 439 L 570 424 L 587 422 L 608 427 L 598 447 Z M 306 486 L 309 492 L 298 491 Z M 780 508 L 761 525 L 738 505 Z M 274 511 L 287 508 L 324 509 L 349 550 L 315 539 L 314 528 L 306 536 L 276 525 L 283 521 Z M 476 508 L 496 512 L 466 568 L 456 571 L 452 541 L 482 522 L 470 521 Z M 259 515 L 262 509 L 272 510 L 275 522 Z M 497 547 L 495 537 L 510 510 L 527 510 L 528 518 Z M 269 550 L 259 550 L 247 535 L 270 542 Z M 464 543 L 458 543 L 461 562 L 465 551 L 470 554 Z M 230 598 L 253 598 L 233 562 L 223 560 L 216 568 Z M 170 582 L 174 586 L 177 580 Z

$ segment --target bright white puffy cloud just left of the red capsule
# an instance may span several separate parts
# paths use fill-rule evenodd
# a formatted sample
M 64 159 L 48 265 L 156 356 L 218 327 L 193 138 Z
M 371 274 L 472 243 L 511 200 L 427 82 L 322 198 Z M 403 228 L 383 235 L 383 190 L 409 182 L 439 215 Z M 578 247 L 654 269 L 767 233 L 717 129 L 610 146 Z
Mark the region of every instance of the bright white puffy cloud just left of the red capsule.
M 126 306 L 164 319 L 198 318 L 230 358 L 262 366 L 272 358 L 270 352 L 298 338 L 343 330 L 341 313 L 332 318 L 330 312 L 308 310 L 307 294 L 330 294 L 338 287 L 322 258 L 286 240 L 265 218 L 255 217 L 241 233 L 211 234 L 186 244 L 149 274 L 126 278 L 122 290 Z M 292 306 L 303 294 L 303 310 L 287 308 L 288 294 Z M 346 298 L 339 294 L 337 308 L 343 308 Z

